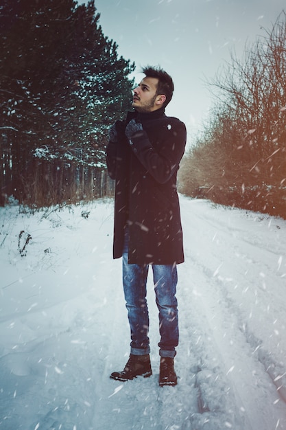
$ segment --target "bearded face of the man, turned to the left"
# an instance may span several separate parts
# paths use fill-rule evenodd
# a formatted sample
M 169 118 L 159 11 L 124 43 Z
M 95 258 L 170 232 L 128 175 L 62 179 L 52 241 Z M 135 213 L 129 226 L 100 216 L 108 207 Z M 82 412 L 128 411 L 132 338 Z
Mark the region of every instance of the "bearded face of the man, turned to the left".
M 165 101 L 165 95 L 156 95 L 157 78 L 143 78 L 133 92 L 132 106 L 139 112 L 152 112 L 160 109 Z

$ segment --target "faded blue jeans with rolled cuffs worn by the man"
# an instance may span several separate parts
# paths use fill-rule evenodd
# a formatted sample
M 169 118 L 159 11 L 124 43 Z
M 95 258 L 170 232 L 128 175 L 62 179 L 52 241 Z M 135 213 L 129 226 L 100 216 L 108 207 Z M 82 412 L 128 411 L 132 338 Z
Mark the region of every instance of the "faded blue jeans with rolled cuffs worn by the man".
M 147 307 L 148 264 L 128 264 L 128 235 L 123 249 L 123 289 L 131 332 L 131 354 L 150 353 L 149 313 Z M 152 264 L 156 304 L 159 310 L 160 357 L 176 355 L 178 346 L 178 282 L 176 265 Z

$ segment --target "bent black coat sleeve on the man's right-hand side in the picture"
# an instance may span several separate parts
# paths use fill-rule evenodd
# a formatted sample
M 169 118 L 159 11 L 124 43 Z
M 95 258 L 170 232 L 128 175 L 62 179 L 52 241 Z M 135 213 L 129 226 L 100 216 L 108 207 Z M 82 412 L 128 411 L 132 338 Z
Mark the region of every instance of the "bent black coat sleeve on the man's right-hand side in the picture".
M 186 127 L 177 120 L 162 131 L 163 142 L 156 150 L 146 131 L 132 137 L 130 146 L 145 169 L 158 183 L 166 183 L 178 169 L 187 140 Z

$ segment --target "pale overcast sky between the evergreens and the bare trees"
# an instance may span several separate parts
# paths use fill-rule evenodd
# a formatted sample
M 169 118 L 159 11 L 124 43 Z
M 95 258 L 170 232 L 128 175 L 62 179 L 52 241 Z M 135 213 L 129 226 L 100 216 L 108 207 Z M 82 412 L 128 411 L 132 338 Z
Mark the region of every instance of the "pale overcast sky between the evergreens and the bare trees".
M 86 3 L 80 1 L 79 3 Z M 173 78 L 167 115 L 187 125 L 188 139 L 208 117 L 213 100 L 206 84 L 235 49 L 271 29 L 286 10 L 285 0 L 95 0 L 99 24 L 118 53 L 141 67 L 160 65 Z

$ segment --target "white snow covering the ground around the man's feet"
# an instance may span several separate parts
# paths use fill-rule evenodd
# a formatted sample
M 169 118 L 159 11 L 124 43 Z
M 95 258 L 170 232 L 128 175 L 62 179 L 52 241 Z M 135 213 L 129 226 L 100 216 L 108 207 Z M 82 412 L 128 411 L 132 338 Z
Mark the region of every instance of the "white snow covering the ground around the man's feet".
M 286 221 L 180 196 L 176 387 L 129 355 L 113 202 L 0 209 L 0 429 L 286 429 Z M 21 233 L 22 232 L 22 233 Z

